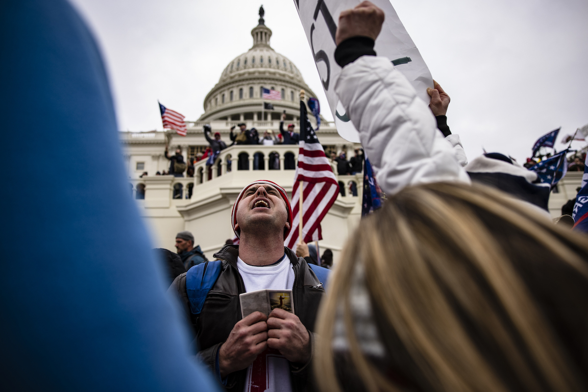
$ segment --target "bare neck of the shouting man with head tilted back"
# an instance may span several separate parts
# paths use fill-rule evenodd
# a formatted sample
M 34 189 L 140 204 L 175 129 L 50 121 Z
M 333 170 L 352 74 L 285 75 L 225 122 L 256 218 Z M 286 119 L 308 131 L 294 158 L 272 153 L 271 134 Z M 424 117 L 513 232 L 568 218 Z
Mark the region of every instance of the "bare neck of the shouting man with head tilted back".
M 241 233 L 239 257 L 250 266 L 269 266 L 284 255 L 284 240 L 279 237 L 252 236 Z

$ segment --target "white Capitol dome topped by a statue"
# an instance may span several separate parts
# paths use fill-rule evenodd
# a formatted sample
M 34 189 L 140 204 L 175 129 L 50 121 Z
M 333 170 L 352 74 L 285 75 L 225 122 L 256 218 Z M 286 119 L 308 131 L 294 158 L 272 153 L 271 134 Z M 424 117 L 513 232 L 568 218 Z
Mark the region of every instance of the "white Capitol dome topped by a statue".
M 272 31 L 265 25 L 263 14 L 261 7 L 259 24 L 251 31 L 253 46 L 223 69 L 218 83 L 204 99 L 205 112 L 198 122 L 278 120 L 283 110 L 286 119 L 293 120 L 300 112 L 300 90 L 305 90 L 307 97 L 316 97 L 296 65 L 270 46 Z M 278 91 L 282 100 L 263 100 L 263 88 Z M 263 102 L 272 103 L 273 112 L 262 110 Z

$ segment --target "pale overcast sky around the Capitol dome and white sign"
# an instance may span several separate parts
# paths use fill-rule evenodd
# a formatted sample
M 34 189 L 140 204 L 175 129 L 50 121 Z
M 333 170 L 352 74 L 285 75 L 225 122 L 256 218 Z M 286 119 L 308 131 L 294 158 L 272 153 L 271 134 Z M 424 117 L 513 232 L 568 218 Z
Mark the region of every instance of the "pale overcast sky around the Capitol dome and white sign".
M 252 46 L 260 4 L 273 49 L 298 66 L 332 119 L 292 0 L 72 2 L 101 45 L 121 130 L 161 130 L 158 99 L 198 119 L 222 69 Z M 483 147 L 523 162 L 539 136 L 588 123 L 586 0 L 392 4 L 451 96 L 448 123 L 469 159 Z

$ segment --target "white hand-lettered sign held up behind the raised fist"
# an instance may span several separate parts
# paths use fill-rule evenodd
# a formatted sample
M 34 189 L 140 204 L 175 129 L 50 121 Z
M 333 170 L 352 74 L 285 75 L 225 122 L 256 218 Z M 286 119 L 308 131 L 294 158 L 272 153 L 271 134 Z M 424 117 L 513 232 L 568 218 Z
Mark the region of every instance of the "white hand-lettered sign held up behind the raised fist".
M 371 1 L 386 15 L 382 32 L 376 39 L 374 50 L 378 56 L 389 58 L 412 83 L 419 97 L 428 103 L 430 98 L 427 94 L 427 87 L 433 87 L 433 78 L 425 61 L 420 56 L 419 49 L 410 39 L 410 35 L 400 22 L 390 1 Z M 335 93 L 335 83 L 341 73 L 341 67 L 335 62 L 337 47 L 335 32 L 337 31 L 339 14 L 346 9 L 354 8 L 360 2 L 360 0 L 294 0 L 339 135 L 354 143 L 359 143 L 359 133 L 349 121 L 345 108 Z

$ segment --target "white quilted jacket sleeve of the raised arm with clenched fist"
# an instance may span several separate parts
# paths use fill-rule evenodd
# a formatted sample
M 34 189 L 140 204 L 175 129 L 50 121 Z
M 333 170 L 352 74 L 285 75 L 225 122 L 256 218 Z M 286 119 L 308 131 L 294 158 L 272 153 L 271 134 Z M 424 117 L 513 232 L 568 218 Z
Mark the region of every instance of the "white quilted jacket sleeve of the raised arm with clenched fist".
M 335 91 L 384 192 L 438 181 L 470 183 L 433 113 L 389 59 L 362 56 L 346 65 Z

